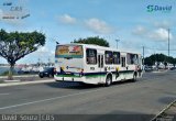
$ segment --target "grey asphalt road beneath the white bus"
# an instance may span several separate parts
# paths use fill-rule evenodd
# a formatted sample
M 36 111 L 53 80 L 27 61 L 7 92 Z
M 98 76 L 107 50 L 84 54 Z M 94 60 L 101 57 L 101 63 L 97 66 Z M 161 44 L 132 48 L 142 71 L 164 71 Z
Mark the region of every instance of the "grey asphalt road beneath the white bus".
M 46 82 L 0 88 L 2 114 L 157 114 L 176 99 L 176 72 L 111 87 Z

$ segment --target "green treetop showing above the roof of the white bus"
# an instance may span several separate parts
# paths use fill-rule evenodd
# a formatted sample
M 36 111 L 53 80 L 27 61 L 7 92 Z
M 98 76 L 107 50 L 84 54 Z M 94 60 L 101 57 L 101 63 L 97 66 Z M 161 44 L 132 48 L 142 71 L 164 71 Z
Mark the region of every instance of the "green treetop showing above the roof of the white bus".
M 96 44 L 109 47 L 109 43 L 107 42 L 107 40 L 100 38 L 99 36 L 75 40 L 74 43 Z

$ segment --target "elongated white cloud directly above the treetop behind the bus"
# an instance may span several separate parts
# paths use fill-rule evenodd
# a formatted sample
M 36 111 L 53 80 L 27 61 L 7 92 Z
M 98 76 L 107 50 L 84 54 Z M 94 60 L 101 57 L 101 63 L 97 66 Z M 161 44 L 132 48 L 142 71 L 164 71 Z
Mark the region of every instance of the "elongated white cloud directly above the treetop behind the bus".
M 112 28 L 110 28 L 105 21 L 92 18 L 85 21 L 86 25 L 94 32 L 100 34 L 109 34 L 112 32 Z

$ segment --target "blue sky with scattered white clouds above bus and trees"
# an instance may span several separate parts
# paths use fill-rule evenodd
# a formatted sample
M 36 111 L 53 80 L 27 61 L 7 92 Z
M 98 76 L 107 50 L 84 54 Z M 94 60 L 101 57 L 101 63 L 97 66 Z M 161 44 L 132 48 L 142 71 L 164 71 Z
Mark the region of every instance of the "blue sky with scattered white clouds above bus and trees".
M 22 11 L 10 11 L 11 7 Z M 170 7 L 170 11 L 147 12 L 147 6 Z M 25 15 L 25 19 L 4 20 L 4 14 Z M 120 40 L 119 48 L 142 53 L 145 56 L 167 50 L 167 29 L 170 29 L 170 50 L 176 50 L 176 1 L 175 0 L 1 0 L 0 29 L 8 32 L 38 31 L 46 35 L 46 45 L 21 61 L 36 63 L 38 58 L 54 61 L 55 42 L 70 43 L 88 36 L 105 37 L 111 47 Z M 157 50 L 156 50 L 157 48 Z M 170 55 L 176 57 L 176 51 Z M 6 59 L 0 58 L 0 63 Z

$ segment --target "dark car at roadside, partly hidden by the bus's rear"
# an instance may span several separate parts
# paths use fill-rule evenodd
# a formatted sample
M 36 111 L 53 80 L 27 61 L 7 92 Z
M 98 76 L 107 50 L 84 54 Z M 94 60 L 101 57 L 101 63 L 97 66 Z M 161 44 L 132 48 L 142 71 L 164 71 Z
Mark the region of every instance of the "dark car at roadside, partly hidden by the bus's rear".
M 38 76 L 41 78 L 43 78 L 43 77 L 54 77 L 54 67 L 44 68 L 43 72 L 38 73 Z

